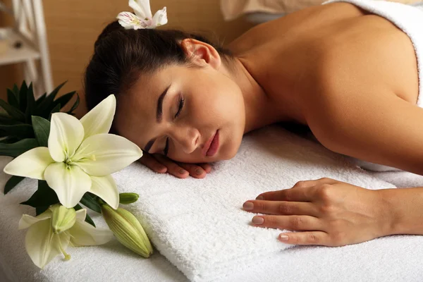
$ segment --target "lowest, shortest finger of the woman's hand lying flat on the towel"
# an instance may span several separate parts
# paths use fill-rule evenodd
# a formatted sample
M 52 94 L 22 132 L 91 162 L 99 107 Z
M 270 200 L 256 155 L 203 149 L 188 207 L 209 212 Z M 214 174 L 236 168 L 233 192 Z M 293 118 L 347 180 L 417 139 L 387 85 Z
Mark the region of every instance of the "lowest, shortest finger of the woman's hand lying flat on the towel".
M 278 240 L 293 245 L 324 245 L 331 246 L 329 235 L 323 231 L 307 231 L 295 233 L 281 233 Z

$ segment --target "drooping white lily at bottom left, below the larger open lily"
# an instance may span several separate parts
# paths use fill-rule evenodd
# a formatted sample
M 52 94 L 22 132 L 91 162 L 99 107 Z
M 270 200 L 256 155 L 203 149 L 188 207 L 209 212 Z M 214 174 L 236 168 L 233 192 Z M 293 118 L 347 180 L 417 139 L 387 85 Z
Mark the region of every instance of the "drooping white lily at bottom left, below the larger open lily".
M 94 228 L 85 222 L 87 211 L 80 209 L 75 213 L 75 223 L 61 233 L 54 232 L 52 216 L 54 205 L 39 216 L 24 214 L 19 221 L 19 229 L 28 228 L 25 236 L 25 249 L 32 262 L 39 268 L 44 268 L 56 255 L 63 254 L 65 259 L 71 258 L 66 253 L 68 245 L 92 246 L 102 245 L 113 238 L 113 233 L 108 229 Z

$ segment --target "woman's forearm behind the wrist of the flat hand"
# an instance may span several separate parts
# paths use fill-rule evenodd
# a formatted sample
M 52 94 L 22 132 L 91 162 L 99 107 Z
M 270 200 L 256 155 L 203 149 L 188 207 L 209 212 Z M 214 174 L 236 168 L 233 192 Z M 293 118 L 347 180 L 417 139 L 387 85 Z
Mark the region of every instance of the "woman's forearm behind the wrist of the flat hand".
M 386 235 L 423 235 L 423 188 L 378 190 L 386 207 L 389 230 Z

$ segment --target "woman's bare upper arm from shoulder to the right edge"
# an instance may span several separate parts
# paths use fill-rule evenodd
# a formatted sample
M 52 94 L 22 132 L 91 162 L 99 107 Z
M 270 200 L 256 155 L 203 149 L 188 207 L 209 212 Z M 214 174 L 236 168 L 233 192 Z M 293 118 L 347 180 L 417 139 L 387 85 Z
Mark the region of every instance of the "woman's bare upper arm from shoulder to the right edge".
M 386 88 L 333 87 L 309 99 L 309 128 L 333 152 L 423 175 L 423 109 Z

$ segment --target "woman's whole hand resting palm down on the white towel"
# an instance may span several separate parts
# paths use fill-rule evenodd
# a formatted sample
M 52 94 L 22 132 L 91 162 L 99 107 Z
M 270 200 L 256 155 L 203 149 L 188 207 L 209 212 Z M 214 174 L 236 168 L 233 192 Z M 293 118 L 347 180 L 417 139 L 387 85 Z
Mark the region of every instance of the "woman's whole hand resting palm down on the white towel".
M 263 199 L 257 200 L 260 196 Z M 378 190 L 331 178 L 265 192 L 243 207 L 248 212 L 271 214 L 254 216 L 254 226 L 302 231 L 282 233 L 288 236 L 285 240 L 279 235 L 288 244 L 343 246 L 389 235 L 391 216 Z

